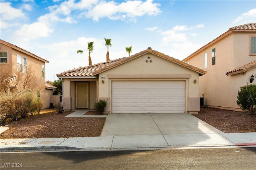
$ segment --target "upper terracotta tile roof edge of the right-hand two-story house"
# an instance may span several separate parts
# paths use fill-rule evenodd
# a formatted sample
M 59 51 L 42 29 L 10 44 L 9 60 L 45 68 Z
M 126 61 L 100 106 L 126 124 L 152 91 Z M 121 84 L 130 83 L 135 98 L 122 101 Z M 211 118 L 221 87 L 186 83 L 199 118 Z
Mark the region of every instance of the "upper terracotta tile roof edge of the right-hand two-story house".
M 206 47 L 212 45 L 216 41 L 219 41 L 220 39 L 226 37 L 227 35 L 229 35 L 232 32 L 238 32 L 238 31 L 253 31 L 253 32 L 256 32 L 256 23 L 247 23 L 247 24 L 244 24 L 244 25 L 238 25 L 238 26 L 229 28 L 228 31 L 222 33 L 220 36 L 218 36 L 214 40 L 210 41 L 209 43 L 207 43 L 206 45 L 204 45 L 200 49 L 196 50 L 194 53 L 192 53 L 191 55 L 189 55 L 188 57 L 186 57 L 182 61 L 187 61 L 188 59 L 193 57 L 195 54 L 199 53 L 200 51 L 202 51 Z

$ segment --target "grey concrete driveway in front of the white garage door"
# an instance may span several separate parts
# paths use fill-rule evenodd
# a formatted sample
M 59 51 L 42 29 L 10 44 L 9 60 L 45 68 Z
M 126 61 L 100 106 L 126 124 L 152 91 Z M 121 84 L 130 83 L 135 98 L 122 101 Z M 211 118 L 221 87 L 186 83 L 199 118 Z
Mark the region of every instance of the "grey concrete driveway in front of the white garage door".
M 101 136 L 223 133 L 188 113 L 111 113 Z

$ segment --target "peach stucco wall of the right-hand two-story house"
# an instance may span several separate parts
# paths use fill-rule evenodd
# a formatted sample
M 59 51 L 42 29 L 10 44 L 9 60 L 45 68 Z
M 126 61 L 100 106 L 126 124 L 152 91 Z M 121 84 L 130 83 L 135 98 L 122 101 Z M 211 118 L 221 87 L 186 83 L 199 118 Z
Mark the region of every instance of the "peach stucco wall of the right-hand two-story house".
M 249 35 L 252 33 L 231 33 L 184 60 L 204 68 L 204 53 L 208 54 L 207 68 L 204 68 L 207 74 L 199 77 L 199 96 L 204 97 L 204 105 L 240 110 L 236 104 L 238 89 L 247 82 L 250 84 L 250 76 L 256 74 L 256 69 L 230 76 L 226 72 L 256 60 L 256 56 L 249 56 Z M 212 66 L 213 48 L 216 49 L 216 64 Z

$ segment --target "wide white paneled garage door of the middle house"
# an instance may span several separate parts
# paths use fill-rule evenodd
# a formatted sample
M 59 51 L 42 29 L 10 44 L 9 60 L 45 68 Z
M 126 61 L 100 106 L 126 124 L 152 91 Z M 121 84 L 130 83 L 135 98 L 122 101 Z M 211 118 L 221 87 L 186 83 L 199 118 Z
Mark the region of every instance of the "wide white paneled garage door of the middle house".
M 112 113 L 184 112 L 184 81 L 112 82 Z

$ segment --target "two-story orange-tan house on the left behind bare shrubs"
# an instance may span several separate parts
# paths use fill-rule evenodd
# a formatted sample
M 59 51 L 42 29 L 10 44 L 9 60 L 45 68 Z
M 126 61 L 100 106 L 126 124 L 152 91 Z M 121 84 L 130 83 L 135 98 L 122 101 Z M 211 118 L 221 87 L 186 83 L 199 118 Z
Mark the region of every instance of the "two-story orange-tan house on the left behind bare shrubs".
M 42 108 L 49 107 L 48 94 L 52 95 L 53 91 L 45 83 L 45 64 L 49 61 L 2 39 L 0 40 L 0 53 L 1 87 L 6 86 L 6 89 L 10 90 L 15 86 L 13 90 L 19 92 L 24 86 L 24 82 L 20 83 L 21 80 L 18 80 L 19 76 L 21 74 L 25 75 L 23 77 L 30 76 L 32 77 L 29 80 L 30 86 L 37 88 L 40 98 L 44 101 Z

